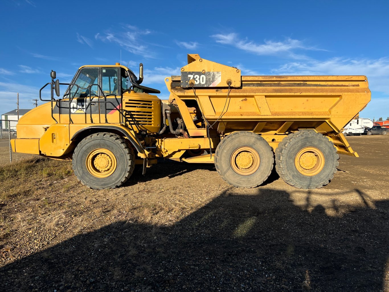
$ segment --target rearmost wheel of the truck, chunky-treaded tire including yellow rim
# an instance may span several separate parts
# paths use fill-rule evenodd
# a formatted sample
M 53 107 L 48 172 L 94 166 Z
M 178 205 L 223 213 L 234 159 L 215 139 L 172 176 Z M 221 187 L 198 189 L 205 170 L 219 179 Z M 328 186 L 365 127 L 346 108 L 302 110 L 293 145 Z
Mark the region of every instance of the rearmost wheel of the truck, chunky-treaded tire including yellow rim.
M 296 188 L 321 188 L 333 178 L 339 165 L 334 144 L 313 130 L 301 130 L 284 138 L 275 150 L 275 169 Z

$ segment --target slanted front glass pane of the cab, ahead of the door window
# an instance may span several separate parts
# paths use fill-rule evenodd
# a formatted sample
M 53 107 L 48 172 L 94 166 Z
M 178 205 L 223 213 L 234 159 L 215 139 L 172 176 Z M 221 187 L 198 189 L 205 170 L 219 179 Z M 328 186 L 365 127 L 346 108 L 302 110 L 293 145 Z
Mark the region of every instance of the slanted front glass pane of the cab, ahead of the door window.
M 96 96 L 98 92 L 98 86 L 91 84 L 98 83 L 98 68 L 84 68 L 80 71 L 74 82 L 77 86 L 72 86 L 70 88 L 70 97 L 88 97 L 89 94 L 91 97 Z M 90 93 L 89 93 L 90 91 Z

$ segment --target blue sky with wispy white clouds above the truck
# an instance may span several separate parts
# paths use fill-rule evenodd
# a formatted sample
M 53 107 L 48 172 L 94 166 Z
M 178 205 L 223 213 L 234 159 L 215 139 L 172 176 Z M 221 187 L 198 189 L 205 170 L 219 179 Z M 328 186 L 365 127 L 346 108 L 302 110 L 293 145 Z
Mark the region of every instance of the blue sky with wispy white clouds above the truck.
M 187 53 L 244 75 L 366 75 L 361 117 L 389 116 L 389 2 L 63 1 L 0 4 L 2 113 L 31 108 L 51 69 L 69 82 L 86 64 L 128 64 L 168 91 Z M 121 52 L 121 56 L 120 56 Z M 41 104 L 41 103 L 39 103 Z

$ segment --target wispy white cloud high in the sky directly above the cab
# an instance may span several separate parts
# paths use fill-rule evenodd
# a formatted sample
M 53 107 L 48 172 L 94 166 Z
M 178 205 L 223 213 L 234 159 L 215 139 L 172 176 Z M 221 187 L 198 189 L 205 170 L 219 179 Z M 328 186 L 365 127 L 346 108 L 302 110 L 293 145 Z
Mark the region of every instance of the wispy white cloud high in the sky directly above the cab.
M 108 30 L 103 33 L 97 33 L 95 39 L 102 40 L 103 42 L 116 43 L 130 53 L 141 55 L 145 58 L 155 57 L 155 53 L 142 40 L 142 36 L 151 33 L 150 30 L 141 30 L 132 25 L 124 26 L 123 30 L 123 32 L 112 32 Z

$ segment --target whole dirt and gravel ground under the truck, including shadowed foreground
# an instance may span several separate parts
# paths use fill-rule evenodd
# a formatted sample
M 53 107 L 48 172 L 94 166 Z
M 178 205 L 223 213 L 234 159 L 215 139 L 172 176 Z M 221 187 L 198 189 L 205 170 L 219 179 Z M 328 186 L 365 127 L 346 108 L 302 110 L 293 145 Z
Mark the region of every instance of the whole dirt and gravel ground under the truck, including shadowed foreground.
M 389 292 L 389 135 L 347 139 L 360 158 L 309 191 L 168 161 L 102 191 L 69 162 L 2 169 L 0 290 Z

